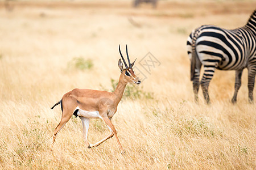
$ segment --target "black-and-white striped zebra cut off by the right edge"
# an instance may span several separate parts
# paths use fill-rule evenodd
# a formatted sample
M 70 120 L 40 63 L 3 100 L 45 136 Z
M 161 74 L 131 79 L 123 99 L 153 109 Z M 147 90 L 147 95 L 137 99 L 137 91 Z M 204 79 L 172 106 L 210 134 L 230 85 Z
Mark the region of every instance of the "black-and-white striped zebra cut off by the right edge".
M 243 69 L 248 69 L 249 102 L 253 103 L 253 88 L 256 73 L 256 10 L 245 26 L 224 29 L 203 25 L 194 29 L 187 40 L 188 56 L 191 59 L 191 81 L 195 101 L 201 84 L 205 101 L 209 104 L 208 87 L 215 69 L 236 70 L 236 83 L 232 103 L 237 101 Z M 204 74 L 199 82 L 201 65 Z

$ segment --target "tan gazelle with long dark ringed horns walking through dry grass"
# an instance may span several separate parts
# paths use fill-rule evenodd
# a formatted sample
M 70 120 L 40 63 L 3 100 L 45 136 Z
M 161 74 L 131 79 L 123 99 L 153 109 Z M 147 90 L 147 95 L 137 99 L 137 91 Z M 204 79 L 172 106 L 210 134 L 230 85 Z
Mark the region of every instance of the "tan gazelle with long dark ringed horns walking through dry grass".
M 63 95 L 62 99 L 58 103 L 53 105 L 51 109 L 53 109 L 58 104 L 61 105 L 62 117 L 59 125 L 57 125 L 53 132 L 51 150 L 53 147 L 53 143 L 55 142 L 57 133 L 59 133 L 61 128 L 63 128 L 63 126 L 74 114 L 76 117 L 79 116 L 82 121 L 82 135 L 88 148 L 97 147 L 102 142 L 115 136 L 119 148 L 121 149 L 122 153 L 124 153 L 123 147 L 117 137 L 117 130 L 115 130 L 111 119 L 114 116 L 115 112 L 117 112 L 117 105 L 122 99 L 123 91 L 125 90 L 126 84 L 140 84 L 141 80 L 139 80 L 139 78 L 134 74 L 133 65 L 136 59 L 133 63 L 130 63 L 127 45 L 126 55 L 129 62 L 129 67 L 127 66 L 125 59 L 122 56 L 120 45 L 119 53 L 122 57 L 123 63 L 125 63 L 125 69 L 123 69 L 123 63 L 121 59 L 119 59 L 118 66 L 121 70 L 121 75 L 119 77 L 117 88 L 114 92 L 75 88 L 74 90 L 69 91 L 67 92 L 67 94 Z M 110 134 L 101 141 L 95 143 L 94 145 L 90 144 L 87 139 L 90 118 L 101 118 L 110 129 Z

